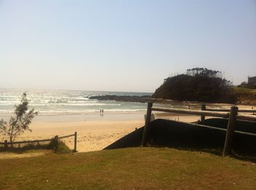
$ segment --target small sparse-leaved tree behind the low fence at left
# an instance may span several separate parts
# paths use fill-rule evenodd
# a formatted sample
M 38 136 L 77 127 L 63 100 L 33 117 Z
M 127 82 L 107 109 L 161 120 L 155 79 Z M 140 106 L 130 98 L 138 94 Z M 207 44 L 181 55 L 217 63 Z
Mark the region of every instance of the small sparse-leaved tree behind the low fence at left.
M 26 130 L 32 131 L 29 129 L 29 124 L 38 112 L 34 111 L 34 108 L 29 110 L 28 106 L 29 101 L 26 98 L 26 92 L 24 92 L 20 104 L 15 106 L 15 116 L 11 116 L 9 124 L 3 119 L 0 120 L 0 134 L 7 135 L 11 143 Z

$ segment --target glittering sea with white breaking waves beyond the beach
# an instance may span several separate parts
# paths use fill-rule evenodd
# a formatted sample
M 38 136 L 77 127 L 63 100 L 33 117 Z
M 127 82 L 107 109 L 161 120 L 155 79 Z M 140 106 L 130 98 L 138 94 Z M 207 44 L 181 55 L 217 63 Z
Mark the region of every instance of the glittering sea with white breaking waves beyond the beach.
M 91 100 L 97 95 L 151 95 L 146 92 L 99 92 L 83 90 L 14 90 L 0 89 L 0 115 L 11 115 L 27 92 L 29 107 L 39 115 L 88 114 L 99 112 L 145 111 L 146 103 L 118 102 L 114 100 Z

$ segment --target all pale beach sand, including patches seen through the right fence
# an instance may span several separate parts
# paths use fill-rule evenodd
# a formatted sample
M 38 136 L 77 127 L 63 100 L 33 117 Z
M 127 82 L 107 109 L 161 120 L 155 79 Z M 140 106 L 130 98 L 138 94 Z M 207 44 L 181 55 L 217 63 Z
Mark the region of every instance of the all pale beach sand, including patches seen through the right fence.
M 230 105 L 220 106 L 222 108 Z M 212 105 L 219 107 L 219 105 Z M 251 108 L 239 106 L 239 108 Z M 143 127 L 146 111 L 133 111 L 124 113 L 99 113 L 37 116 L 31 123 L 32 132 L 25 132 L 16 140 L 41 140 L 53 138 L 55 135 L 71 135 L 78 132 L 77 150 L 99 151 L 115 142 L 124 135 Z M 154 112 L 156 119 L 171 119 L 181 122 L 196 122 L 200 116 Z M 2 118 L 2 117 L 1 117 Z M 208 117 L 206 117 L 208 118 Z M 7 119 L 7 118 L 4 118 Z M 4 139 L 1 139 L 3 141 Z M 74 148 L 74 137 L 65 138 L 65 143 L 70 149 Z

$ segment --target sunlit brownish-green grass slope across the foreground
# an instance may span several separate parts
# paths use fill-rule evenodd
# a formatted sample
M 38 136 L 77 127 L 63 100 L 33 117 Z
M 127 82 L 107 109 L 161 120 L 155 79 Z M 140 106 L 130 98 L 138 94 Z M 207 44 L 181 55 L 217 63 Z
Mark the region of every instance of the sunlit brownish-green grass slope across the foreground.
M 256 165 L 178 149 L 134 148 L 0 160 L 0 189 L 254 189 Z

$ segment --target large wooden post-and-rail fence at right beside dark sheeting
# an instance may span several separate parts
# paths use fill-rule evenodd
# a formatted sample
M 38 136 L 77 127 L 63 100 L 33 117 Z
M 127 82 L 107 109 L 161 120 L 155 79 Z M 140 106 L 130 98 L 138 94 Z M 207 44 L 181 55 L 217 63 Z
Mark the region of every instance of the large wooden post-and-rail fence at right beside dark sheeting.
M 156 102 L 156 101 L 155 101 Z M 157 101 L 159 103 L 159 101 Z M 166 103 L 166 102 L 165 102 Z M 146 146 L 148 143 L 148 127 L 151 121 L 152 111 L 164 111 L 177 114 L 189 114 L 201 116 L 201 121 L 205 119 L 205 116 L 214 116 L 228 118 L 227 132 L 225 138 L 225 145 L 223 149 L 223 155 L 230 154 L 231 146 L 233 142 L 233 135 L 235 133 L 236 119 L 256 122 L 256 116 L 248 114 L 238 114 L 239 112 L 255 113 L 255 110 L 239 110 L 237 106 L 232 106 L 230 109 L 206 109 L 206 105 L 202 105 L 201 110 L 181 109 L 181 108 L 162 108 L 153 107 L 153 102 L 148 103 L 146 112 L 146 121 L 143 132 L 142 145 Z

